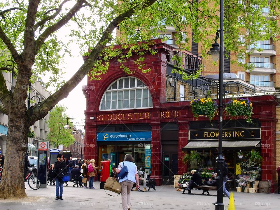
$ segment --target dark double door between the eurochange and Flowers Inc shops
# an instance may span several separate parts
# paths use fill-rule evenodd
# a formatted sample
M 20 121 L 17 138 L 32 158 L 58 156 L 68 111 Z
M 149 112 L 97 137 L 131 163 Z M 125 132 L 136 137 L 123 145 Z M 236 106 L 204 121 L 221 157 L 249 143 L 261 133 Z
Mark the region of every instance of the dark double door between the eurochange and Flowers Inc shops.
M 162 184 L 173 185 L 174 175 L 178 173 L 178 153 L 163 153 Z

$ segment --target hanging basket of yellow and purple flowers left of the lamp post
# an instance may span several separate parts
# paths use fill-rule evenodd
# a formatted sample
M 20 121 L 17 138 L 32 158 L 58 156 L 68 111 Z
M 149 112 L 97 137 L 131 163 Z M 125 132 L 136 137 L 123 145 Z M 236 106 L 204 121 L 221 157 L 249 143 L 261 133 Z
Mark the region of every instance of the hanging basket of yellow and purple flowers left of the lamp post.
M 205 115 L 209 120 L 212 120 L 215 113 L 217 113 L 218 105 L 216 101 L 213 101 L 211 98 L 202 98 L 190 101 L 190 107 L 192 108 L 194 117 Z

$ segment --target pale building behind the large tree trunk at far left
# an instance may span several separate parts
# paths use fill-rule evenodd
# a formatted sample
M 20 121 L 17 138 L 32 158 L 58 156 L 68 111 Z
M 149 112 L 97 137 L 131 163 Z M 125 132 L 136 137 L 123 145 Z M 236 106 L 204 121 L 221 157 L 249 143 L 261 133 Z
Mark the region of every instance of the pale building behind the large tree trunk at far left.
M 16 77 L 13 76 L 12 73 L 2 72 L 8 90 L 13 91 L 16 84 Z M 41 102 L 48 98 L 51 94 L 47 90 L 46 85 L 38 79 L 35 83 L 29 85 L 30 93 L 27 93 L 26 105 L 27 107 L 34 106 L 35 103 Z M 48 134 L 48 125 L 47 121 L 49 119 L 49 114 L 47 114 L 43 119 L 37 120 L 34 125 L 30 127 L 30 130 L 34 131 L 35 136 L 32 138 L 28 138 L 28 151 L 29 156 L 37 155 L 37 143 L 40 140 L 46 140 Z M 6 153 L 6 142 L 7 142 L 7 134 L 8 134 L 8 116 L 0 113 L 0 151 L 1 154 L 5 155 Z

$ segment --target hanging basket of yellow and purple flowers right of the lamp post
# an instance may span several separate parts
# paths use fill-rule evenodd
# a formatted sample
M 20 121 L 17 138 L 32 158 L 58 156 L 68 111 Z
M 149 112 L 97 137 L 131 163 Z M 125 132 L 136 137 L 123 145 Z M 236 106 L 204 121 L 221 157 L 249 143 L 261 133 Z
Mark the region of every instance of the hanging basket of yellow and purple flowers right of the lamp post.
M 227 106 L 225 107 L 225 111 L 228 115 L 233 117 L 244 116 L 246 122 L 252 122 L 252 114 L 253 114 L 253 104 L 249 101 L 248 98 L 240 100 L 231 100 L 227 102 Z

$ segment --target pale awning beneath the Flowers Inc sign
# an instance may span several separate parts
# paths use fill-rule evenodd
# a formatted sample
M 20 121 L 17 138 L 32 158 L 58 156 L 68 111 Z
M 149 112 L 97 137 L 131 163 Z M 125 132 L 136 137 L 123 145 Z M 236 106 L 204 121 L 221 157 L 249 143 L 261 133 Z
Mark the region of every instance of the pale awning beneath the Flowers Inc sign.
M 248 148 L 253 149 L 258 146 L 260 140 L 254 141 L 223 141 L 224 149 L 240 149 Z M 190 141 L 182 148 L 183 151 L 190 150 L 210 150 L 211 148 L 218 148 L 218 141 Z

